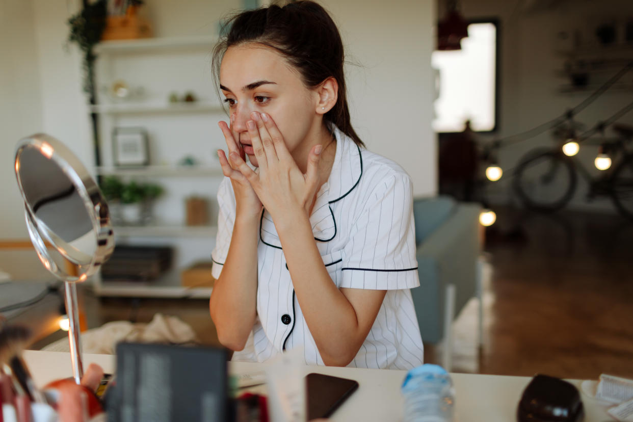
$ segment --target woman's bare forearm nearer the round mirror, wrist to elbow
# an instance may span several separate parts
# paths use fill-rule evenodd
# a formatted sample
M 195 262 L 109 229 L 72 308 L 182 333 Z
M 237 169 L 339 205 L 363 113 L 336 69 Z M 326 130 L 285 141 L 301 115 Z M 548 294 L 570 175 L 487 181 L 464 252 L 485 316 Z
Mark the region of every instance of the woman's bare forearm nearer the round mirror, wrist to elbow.
M 229 253 L 211 292 L 211 319 L 220 343 L 244 349 L 256 318 L 259 219 L 235 219 Z

